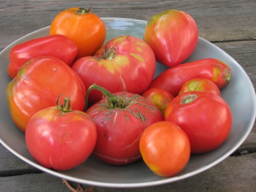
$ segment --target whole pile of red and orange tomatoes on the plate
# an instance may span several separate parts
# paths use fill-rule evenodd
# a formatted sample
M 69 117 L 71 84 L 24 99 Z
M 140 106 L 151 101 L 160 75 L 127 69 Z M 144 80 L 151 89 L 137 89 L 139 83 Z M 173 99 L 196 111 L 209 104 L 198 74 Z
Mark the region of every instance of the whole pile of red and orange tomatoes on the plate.
M 188 13 L 152 16 L 143 40 L 104 44 L 106 33 L 90 8 L 69 8 L 48 36 L 10 52 L 10 115 L 38 163 L 68 170 L 91 154 L 118 165 L 142 158 L 171 177 L 226 140 L 232 114 L 220 89 L 230 68 L 214 58 L 182 63 L 198 40 Z M 156 61 L 169 68 L 153 79 Z

